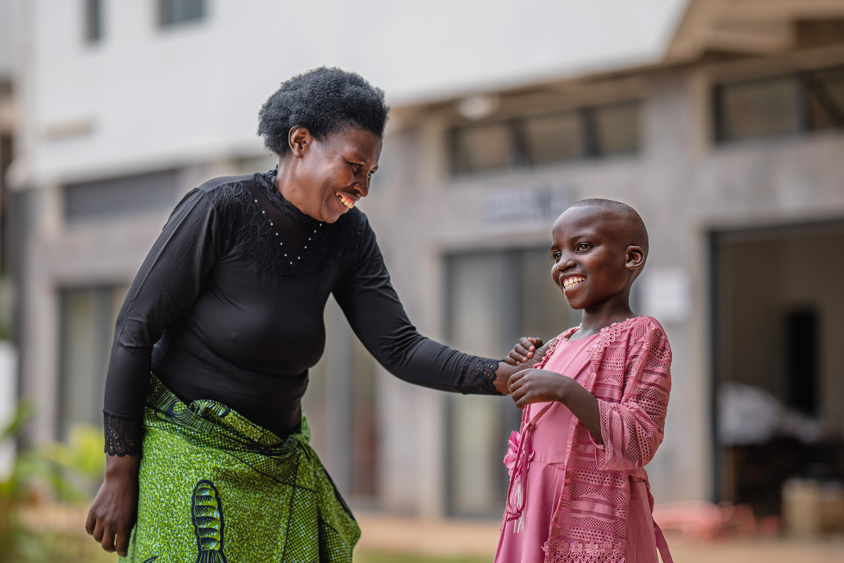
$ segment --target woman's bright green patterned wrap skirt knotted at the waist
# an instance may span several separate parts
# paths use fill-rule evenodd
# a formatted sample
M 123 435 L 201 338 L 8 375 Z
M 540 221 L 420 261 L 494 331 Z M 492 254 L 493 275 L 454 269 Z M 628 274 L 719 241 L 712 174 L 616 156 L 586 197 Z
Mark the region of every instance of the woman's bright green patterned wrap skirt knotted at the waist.
M 360 528 L 308 445 L 154 376 L 144 412 L 132 563 L 351 562 Z

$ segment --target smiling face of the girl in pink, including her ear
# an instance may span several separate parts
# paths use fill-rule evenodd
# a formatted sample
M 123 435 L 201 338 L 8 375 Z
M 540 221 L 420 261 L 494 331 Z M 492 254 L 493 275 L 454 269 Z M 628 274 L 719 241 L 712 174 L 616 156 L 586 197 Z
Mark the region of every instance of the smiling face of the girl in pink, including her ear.
M 640 246 L 627 246 L 627 221 L 612 210 L 569 208 L 554 224 L 551 277 L 572 309 L 590 309 L 630 284 L 645 263 Z

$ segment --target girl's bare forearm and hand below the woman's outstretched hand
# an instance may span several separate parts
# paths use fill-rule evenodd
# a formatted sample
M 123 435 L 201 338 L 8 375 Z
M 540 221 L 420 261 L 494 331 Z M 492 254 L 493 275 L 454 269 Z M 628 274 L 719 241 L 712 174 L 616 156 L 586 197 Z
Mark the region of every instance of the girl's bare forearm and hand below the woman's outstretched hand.
M 598 443 L 601 437 L 601 413 L 598 399 L 580 383 L 561 373 L 548 370 L 522 370 L 507 383 L 516 406 L 524 409 L 531 403 L 559 401 L 571 410 Z

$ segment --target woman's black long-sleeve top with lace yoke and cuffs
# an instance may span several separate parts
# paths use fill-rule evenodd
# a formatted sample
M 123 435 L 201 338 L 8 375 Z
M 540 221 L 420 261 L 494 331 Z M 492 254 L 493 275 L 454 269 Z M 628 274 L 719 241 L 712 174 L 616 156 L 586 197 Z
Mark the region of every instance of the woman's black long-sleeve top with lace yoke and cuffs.
M 215 178 L 170 215 L 117 317 L 106 452 L 139 452 L 150 372 L 185 403 L 214 399 L 288 436 L 325 347 L 332 293 L 366 349 L 404 381 L 497 394 L 497 360 L 450 349 L 410 324 L 365 214 L 311 219 L 281 196 L 274 176 Z M 269 202 L 253 197 L 248 181 Z M 273 223 L 262 203 L 284 220 Z

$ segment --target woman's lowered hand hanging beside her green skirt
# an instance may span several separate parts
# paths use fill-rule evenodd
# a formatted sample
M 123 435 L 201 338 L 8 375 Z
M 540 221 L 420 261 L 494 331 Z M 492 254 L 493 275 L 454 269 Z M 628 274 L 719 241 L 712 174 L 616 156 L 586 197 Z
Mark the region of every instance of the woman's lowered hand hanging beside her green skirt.
M 103 549 L 126 557 L 129 535 L 138 515 L 140 456 L 106 456 L 106 480 L 88 512 L 85 531 Z

